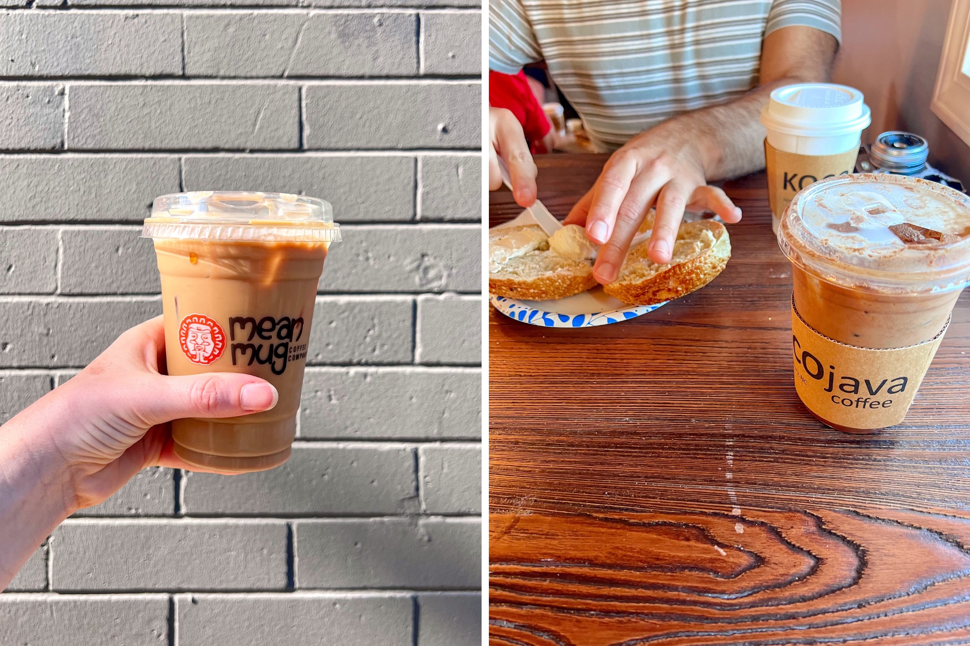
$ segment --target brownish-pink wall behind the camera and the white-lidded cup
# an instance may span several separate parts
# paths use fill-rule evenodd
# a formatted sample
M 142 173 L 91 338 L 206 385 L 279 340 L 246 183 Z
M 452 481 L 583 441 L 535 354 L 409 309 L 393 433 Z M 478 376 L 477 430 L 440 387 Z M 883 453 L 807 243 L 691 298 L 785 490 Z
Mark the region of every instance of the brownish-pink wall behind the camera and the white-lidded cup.
M 833 81 L 857 87 L 872 109 L 862 142 L 887 130 L 929 141 L 929 161 L 970 183 L 970 146 L 929 111 L 952 0 L 842 0 L 842 48 Z

